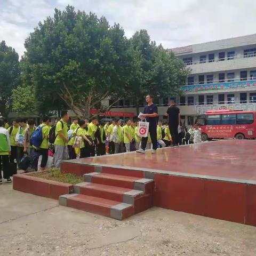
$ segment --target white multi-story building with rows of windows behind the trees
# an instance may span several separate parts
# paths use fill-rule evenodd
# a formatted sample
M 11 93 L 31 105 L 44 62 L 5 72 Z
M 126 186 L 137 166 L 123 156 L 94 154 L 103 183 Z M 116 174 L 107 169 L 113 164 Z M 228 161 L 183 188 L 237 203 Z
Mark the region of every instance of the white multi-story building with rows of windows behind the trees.
M 171 51 L 191 70 L 187 84 L 182 86 L 184 94 L 175 97 L 183 123 L 192 125 L 196 116 L 207 110 L 256 110 L 256 34 Z M 162 117 L 172 97 L 166 96 L 157 102 Z M 122 101 L 113 110 L 120 107 L 122 111 L 136 112 L 130 102 Z

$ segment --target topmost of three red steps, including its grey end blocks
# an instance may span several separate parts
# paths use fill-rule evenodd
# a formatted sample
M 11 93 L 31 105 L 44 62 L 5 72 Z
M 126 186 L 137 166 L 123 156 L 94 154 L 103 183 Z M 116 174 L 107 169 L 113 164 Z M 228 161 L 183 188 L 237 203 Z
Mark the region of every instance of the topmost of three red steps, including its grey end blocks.
M 84 174 L 84 181 L 102 185 L 141 190 L 146 194 L 151 194 L 154 191 L 154 180 L 143 178 L 139 179 L 138 177 L 130 177 L 125 175 L 92 172 Z

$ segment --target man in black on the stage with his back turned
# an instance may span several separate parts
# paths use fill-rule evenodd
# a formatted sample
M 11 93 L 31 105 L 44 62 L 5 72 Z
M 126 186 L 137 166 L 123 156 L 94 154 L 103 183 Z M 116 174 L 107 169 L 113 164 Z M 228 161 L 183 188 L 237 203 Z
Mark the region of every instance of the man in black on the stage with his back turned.
M 165 115 L 169 117 L 169 129 L 172 136 L 173 146 L 178 146 L 178 125 L 180 124 L 180 109 L 176 106 L 174 100 L 170 100 L 170 107 L 167 109 Z

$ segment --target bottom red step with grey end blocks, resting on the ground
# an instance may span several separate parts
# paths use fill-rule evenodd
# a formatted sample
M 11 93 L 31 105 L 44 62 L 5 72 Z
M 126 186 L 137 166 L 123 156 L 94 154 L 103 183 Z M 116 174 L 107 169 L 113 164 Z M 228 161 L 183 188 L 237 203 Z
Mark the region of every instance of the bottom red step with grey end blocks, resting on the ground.
M 82 194 L 62 195 L 59 197 L 59 205 L 104 215 L 117 220 L 123 220 L 134 214 L 132 204 Z

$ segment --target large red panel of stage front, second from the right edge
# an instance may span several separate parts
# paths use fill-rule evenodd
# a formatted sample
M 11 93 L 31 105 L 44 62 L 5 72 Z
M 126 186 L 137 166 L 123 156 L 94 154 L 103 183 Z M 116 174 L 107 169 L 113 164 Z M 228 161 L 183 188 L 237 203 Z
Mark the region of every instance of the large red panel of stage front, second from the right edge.
M 244 223 L 246 185 L 204 180 L 205 216 Z

